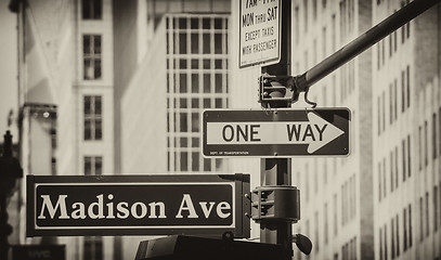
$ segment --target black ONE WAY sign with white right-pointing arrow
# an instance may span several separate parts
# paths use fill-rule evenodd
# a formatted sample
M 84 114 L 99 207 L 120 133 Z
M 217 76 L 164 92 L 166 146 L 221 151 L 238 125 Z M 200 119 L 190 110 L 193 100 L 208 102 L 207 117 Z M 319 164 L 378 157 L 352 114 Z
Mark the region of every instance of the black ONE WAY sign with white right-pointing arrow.
M 349 155 L 348 108 L 205 110 L 203 154 L 212 157 Z

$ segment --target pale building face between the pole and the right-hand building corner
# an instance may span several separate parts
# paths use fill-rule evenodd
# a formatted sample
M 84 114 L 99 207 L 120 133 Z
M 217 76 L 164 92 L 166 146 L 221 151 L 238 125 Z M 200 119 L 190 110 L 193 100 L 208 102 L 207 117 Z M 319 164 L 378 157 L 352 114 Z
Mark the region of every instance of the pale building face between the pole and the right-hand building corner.
M 369 1 L 293 2 L 293 75 L 307 72 L 372 26 Z M 297 259 L 374 258 L 371 52 L 309 92 L 317 107 L 351 110 L 350 155 L 293 159 L 293 183 L 301 193 L 301 220 L 294 231 L 313 243 L 311 256 L 297 252 Z

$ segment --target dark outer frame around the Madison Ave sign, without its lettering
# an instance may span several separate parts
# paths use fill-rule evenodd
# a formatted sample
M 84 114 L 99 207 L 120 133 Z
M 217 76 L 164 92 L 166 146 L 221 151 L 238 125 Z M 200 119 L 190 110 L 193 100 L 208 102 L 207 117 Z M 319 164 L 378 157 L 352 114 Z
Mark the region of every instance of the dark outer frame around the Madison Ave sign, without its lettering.
M 27 176 L 27 223 L 26 223 L 26 236 L 114 236 L 114 235 L 197 235 L 205 237 L 219 237 L 225 232 L 231 232 L 235 237 L 248 238 L 250 235 L 250 220 L 246 217 L 246 213 L 250 212 L 250 202 L 245 198 L 245 194 L 249 193 L 249 174 L 151 174 L 151 176 Z M 148 183 L 164 182 L 164 183 L 212 183 L 212 184 L 234 184 L 234 205 L 232 209 L 234 212 L 234 223 L 232 227 L 225 227 L 224 225 L 210 225 L 210 227 L 192 229 L 185 225 L 164 229 L 145 229 L 127 227 L 120 229 L 103 229 L 103 226 L 88 226 L 88 229 L 76 229 L 76 226 L 69 226 L 69 229 L 57 229 L 54 226 L 46 226 L 44 230 L 36 229 L 36 188 L 37 185 L 51 184 L 66 185 L 69 183 L 92 184 L 93 183 Z M 210 185 L 210 184 L 207 184 Z M 80 227 L 80 226 L 77 226 Z

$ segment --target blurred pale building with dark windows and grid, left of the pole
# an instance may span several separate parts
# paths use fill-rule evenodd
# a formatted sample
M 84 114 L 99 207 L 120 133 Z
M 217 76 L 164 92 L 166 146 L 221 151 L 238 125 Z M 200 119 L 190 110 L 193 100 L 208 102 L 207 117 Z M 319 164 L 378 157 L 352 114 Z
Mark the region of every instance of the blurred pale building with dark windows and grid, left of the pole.
M 199 152 L 199 113 L 228 105 L 230 1 L 11 1 L 18 16 L 26 174 L 225 171 Z M 116 62 L 114 62 L 116 61 Z M 25 238 L 67 259 L 132 259 L 141 238 Z

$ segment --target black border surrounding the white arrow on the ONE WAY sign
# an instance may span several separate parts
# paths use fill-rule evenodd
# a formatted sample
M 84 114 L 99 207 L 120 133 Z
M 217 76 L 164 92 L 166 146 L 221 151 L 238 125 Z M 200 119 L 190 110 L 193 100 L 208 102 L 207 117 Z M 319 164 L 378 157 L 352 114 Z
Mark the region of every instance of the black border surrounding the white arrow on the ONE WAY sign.
M 308 144 L 289 144 L 289 143 L 249 143 L 249 144 L 208 144 L 207 129 L 208 123 L 217 122 L 299 122 L 308 118 L 308 114 L 313 113 L 319 118 L 333 125 L 337 121 L 335 128 L 340 129 L 343 133 L 329 143 L 313 153 L 307 153 Z M 297 118 L 296 118 L 297 117 Z M 296 120 L 297 119 L 297 120 Z M 259 157 L 259 158 L 277 158 L 277 157 L 299 157 L 299 156 L 349 156 L 350 154 L 350 121 L 351 112 L 346 107 L 315 108 L 315 109 L 206 109 L 203 113 L 202 129 L 202 150 L 204 157 Z M 303 122 L 303 121 L 301 121 Z M 210 139 L 211 140 L 211 139 Z M 326 145 L 339 145 L 341 151 L 333 152 Z

